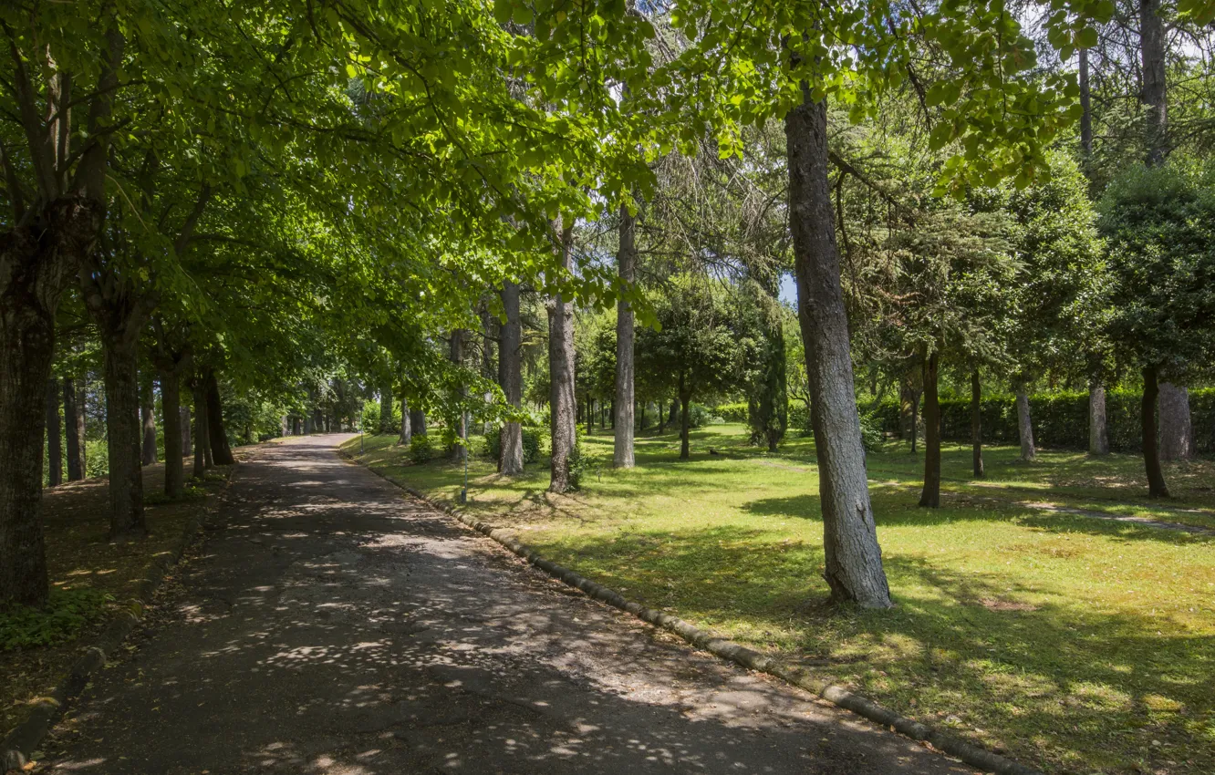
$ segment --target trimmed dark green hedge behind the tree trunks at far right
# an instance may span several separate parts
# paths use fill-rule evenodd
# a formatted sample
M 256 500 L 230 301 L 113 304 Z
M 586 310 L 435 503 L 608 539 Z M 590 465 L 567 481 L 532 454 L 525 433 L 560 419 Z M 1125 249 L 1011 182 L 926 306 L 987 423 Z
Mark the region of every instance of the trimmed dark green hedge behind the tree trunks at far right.
M 1109 448 L 1114 452 L 1142 452 L 1140 432 L 1140 402 L 1142 394 L 1129 390 L 1106 392 L 1106 418 Z M 983 440 L 994 445 L 1016 445 L 1017 403 L 1012 396 L 993 396 L 981 402 Z M 883 401 L 870 412 L 881 420 L 882 430 L 899 432 L 899 405 Z M 1034 423 L 1034 443 L 1061 449 L 1089 448 L 1089 394 L 1056 392 L 1029 397 L 1029 413 Z M 1189 414 L 1194 428 L 1194 443 L 1199 453 L 1215 452 L 1215 388 L 1189 391 Z M 940 402 L 940 435 L 946 441 L 968 441 L 971 437 L 970 398 L 948 398 Z

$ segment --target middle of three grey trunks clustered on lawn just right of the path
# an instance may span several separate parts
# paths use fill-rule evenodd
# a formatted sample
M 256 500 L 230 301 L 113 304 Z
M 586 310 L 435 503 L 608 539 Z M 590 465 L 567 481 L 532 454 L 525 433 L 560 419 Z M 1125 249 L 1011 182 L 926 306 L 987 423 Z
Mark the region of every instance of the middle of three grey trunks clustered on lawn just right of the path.
M 572 230 L 561 230 L 561 266 L 572 270 Z M 548 302 L 548 378 L 553 475 L 549 492 L 570 488 L 570 454 L 577 443 L 578 405 L 573 392 L 573 302 L 556 294 Z

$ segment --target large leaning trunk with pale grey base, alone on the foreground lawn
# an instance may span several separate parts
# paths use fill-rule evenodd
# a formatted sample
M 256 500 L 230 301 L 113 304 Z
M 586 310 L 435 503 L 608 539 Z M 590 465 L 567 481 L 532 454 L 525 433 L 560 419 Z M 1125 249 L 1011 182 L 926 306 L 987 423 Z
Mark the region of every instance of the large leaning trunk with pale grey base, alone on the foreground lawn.
M 785 136 L 798 319 L 806 344 L 823 505 L 825 578 L 833 600 L 888 607 L 891 590 L 869 500 L 848 318 L 840 285 L 827 181 L 827 106 L 825 101 L 815 102 L 804 83 L 802 100 L 785 115 Z

